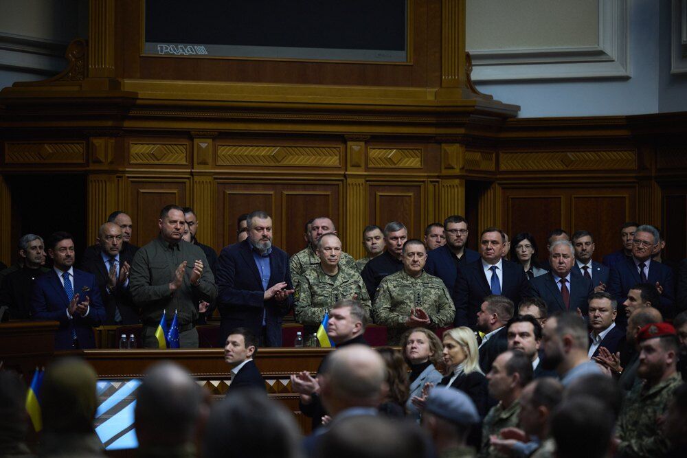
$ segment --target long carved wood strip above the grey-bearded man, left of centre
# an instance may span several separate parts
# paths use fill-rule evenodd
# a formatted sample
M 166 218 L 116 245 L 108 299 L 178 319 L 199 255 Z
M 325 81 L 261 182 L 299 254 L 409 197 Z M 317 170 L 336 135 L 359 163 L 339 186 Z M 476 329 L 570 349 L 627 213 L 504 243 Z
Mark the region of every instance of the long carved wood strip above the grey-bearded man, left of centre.
M 340 167 L 338 146 L 218 145 L 217 165 L 311 165 Z

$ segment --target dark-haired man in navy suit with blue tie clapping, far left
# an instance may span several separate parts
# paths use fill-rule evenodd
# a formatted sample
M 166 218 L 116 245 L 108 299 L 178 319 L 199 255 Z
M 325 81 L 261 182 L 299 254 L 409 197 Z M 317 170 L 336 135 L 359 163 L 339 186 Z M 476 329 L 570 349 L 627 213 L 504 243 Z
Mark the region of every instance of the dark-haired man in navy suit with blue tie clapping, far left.
M 95 277 L 74 268 L 74 238 L 56 232 L 47 240 L 52 272 L 36 278 L 31 293 L 34 320 L 58 321 L 55 350 L 95 348 L 93 328 L 105 319 Z

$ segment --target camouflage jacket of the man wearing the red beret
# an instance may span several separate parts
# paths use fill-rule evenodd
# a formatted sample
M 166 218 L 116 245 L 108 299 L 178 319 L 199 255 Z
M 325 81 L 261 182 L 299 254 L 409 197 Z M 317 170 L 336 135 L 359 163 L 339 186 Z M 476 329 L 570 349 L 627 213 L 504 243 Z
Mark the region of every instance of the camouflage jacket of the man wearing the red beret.
M 618 417 L 619 455 L 659 457 L 666 453 L 668 439 L 662 434 L 657 420 L 666 412 L 673 392 L 681 384 L 679 374 L 673 374 L 653 387 L 646 386 L 646 383 L 635 383 Z

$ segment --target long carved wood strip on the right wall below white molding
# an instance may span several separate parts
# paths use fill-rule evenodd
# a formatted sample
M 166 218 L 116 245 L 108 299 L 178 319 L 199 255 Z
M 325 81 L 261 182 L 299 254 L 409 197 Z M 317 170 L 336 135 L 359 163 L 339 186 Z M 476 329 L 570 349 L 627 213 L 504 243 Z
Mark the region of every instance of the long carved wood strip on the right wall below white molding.
M 634 150 L 502 152 L 499 168 L 519 170 L 628 170 L 637 167 Z

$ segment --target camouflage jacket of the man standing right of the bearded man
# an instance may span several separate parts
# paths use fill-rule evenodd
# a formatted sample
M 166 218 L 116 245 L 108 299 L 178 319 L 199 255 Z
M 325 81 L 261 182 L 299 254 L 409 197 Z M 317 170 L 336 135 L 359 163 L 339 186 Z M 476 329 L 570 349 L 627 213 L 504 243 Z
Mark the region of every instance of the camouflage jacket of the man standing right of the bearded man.
M 293 297 L 296 321 L 319 325 L 335 302 L 353 299 L 357 295 L 361 306 L 370 312 L 370 297 L 360 274 L 339 263 L 339 275 L 333 279 L 317 265 L 301 276 Z

